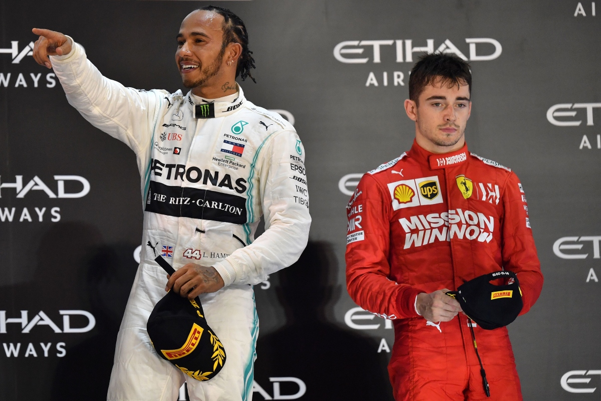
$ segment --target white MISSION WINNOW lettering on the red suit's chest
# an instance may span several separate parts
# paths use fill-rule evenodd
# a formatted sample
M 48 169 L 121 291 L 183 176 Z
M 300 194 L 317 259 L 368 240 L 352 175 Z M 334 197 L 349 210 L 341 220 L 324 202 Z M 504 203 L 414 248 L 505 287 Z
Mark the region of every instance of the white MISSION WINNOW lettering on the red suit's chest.
M 427 245 L 436 240 L 450 241 L 453 238 L 490 242 L 495 228 L 493 216 L 487 217 L 483 213 L 462 209 L 410 216 L 409 219 L 401 218 L 398 222 L 407 233 L 403 249 Z M 418 232 L 415 233 L 415 230 Z

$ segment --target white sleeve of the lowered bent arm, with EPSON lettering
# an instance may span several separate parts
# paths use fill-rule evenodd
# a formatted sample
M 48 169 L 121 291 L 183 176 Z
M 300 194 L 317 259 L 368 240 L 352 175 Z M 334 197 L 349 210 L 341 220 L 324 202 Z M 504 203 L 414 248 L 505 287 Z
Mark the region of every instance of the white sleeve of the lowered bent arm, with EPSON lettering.
M 301 141 L 296 132 L 286 130 L 276 134 L 262 152 L 259 177 L 265 232 L 213 266 L 226 286 L 267 280 L 267 275 L 296 262 L 309 239 L 311 216 Z M 294 162 L 290 156 L 301 161 Z M 293 171 L 291 165 L 299 168 Z M 304 183 L 294 180 L 295 175 Z

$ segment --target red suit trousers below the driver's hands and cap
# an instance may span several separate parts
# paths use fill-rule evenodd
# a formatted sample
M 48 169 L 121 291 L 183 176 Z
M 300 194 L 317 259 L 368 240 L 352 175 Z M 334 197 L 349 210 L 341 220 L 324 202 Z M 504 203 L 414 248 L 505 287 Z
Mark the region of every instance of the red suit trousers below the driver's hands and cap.
M 468 318 L 460 313 L 450 322 L 432 324 L 423 317 L 394 320 L 388 372 L 396 401 L 522 401 L 507 328 L 474 326 L 490 386 L 486 397 Z

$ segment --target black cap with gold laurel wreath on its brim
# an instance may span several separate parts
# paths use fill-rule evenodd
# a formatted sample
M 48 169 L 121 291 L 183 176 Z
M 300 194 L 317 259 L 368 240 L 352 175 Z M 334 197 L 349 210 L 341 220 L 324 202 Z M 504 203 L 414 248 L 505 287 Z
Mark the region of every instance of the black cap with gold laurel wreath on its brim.
M 157 259 L 159 265 L 168 265 Z M 155 305 L 146 329 L 159 357 L 191 378 L 212 379 L 225 364 L 224 346 L 207 324 L 198 297 L 189 300 L 169 291 Z

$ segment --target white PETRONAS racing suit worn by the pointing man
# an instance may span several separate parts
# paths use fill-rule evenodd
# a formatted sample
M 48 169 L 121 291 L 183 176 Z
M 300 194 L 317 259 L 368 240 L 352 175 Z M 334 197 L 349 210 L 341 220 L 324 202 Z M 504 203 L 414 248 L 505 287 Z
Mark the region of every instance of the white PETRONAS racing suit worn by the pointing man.
M 281 116 L 245 99 L 135 90 L 103 77 L 83 47 L 50 57 L 69 103 L 136 153 L 144 207 L 141 263 L 117 338 L 109 400 L 251 400 L 258 318 L 253 284 L 296 262 L 307 245 L 305 152 Z M 198 103 L 198 104 L 197 104 Z M 196 115 L 197 118 L 194 116 Z M 200 117 L 200 118 L 199 118 Z M 266 231 L 254 240 L 264 214 Z M 166 274 L 213 266 L 225 287 L 200 296 L 227 360 L 215 378 L 189 378 L 156 355 L 146 332 Z

